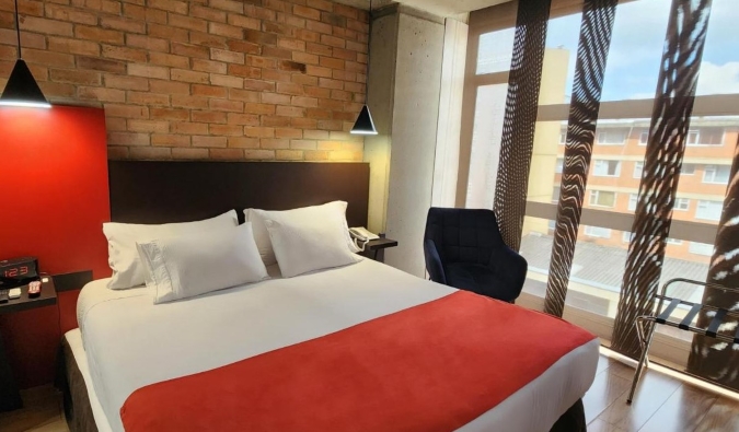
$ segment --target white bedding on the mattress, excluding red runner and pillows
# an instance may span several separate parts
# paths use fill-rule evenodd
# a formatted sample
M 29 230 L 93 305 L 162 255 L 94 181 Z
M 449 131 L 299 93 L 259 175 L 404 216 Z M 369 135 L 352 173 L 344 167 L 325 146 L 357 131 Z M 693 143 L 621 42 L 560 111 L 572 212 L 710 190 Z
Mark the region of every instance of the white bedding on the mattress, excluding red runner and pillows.
M 160 305 L 153 304 L 147 288 L 112 291 L 106 282 L 97 280 L 82 290 L 78 319 L 94 394 L 109 420 L 101 430 L 113 431 L 123 431 L 119 409 L 140 387 L 321 337 L 455 291 L 369 259 L 291 279 L 275 275 Z M 461 430 L 547 431 L 590 387 L 598 347 L 593 340 L 571 351 Z

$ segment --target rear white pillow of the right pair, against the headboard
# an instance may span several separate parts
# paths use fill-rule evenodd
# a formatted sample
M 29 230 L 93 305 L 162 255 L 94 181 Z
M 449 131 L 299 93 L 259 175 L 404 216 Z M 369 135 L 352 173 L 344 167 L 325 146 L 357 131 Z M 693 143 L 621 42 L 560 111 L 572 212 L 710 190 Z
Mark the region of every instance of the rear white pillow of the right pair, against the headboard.
M 291 220 L 335 221 L 344 231 L 347 249 L 359 252 L 351 241 L 351 236 L 349 236 L 349 226 L 346 222 L 346 201 L 333 201 L 323 206 L 302 207 L 285 211 L 246 209 L 244 210 L 244 217 L 247 221 L 252 222 L 254 240 L 256 241 L 256 247 L 259 248 L 259 255 L 262 255 L 264 265 L 272 266 L 277 262 L 277 258 L 275 257 L 275 250 L 273 249 L 265 222 L 277 217 L 290 218 Z

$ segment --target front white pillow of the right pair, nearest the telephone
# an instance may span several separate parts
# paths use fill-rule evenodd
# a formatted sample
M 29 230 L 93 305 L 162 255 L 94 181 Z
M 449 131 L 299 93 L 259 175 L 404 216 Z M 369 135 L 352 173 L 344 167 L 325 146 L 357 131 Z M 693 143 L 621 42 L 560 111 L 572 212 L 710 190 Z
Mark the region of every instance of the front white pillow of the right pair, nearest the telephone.
M 273 214 L 265 223 L 280 272 L 285 278 L 346 266 L 360 258 L 346 245 L 345 230 L 336 215 L 298 219 Z

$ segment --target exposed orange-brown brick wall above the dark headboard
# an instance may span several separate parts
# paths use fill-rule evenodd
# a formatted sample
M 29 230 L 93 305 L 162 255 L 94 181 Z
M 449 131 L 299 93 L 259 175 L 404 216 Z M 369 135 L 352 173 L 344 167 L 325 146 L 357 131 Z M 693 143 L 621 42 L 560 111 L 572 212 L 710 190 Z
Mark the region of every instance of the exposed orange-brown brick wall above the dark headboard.
M 367 13 L 328 0 L 20 1 L 53 103 L 104 106 L 111 159 L 356 161 Z M 16 57 L 0 0 L 0 86 Z

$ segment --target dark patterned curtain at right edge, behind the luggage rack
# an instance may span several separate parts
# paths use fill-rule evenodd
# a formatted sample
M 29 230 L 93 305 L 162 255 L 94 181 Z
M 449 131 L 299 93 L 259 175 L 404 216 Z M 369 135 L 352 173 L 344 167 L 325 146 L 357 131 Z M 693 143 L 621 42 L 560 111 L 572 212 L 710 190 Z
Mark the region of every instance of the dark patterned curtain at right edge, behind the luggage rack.
M 716 249 L 711 260 L 708 280 L 706 282 L 726 287 L 739 287 L 739 142 L 734 153 L 731 179 L 726 191 L 724 213 L 716 235 Z M 739 295 L 706 288 L 703 293 L 703 304 L 729 311 L 739 311 Z M 705 328 L 713 315 L 702 314 L 698 317 L 698 327 Z M 736 319 L 724 320 L 719 330 L 731 337 L 739 331 Z M 739 351 L 736 346 L 695 335 L 688 372 L 717 382 L 727 387 L 739 389 Z

